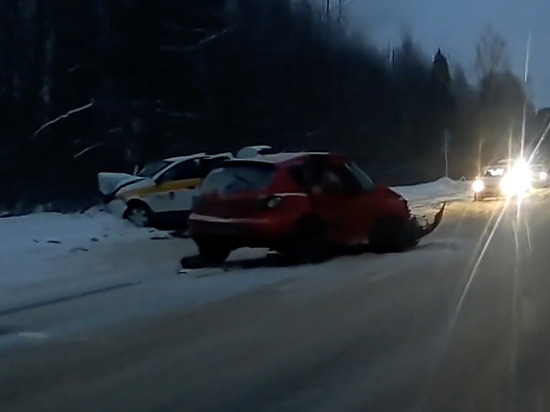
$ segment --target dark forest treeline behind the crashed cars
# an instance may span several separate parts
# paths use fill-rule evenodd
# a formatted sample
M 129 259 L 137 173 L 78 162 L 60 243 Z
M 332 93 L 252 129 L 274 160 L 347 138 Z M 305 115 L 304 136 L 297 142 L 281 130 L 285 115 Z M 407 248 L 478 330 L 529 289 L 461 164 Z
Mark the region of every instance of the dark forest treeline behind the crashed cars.
M 380 51 L 306 0 L 4 0 L 0 202 L 92 199 L 98 171 L 247 144 L 351 154 L 391 184 L 471 176 L 544 129 L 487 31 L 478 78 Z M 340 21 L 342 19 L 342 21 Z M 475 83 L 475 84 L 474 84 Z M 73 111 L 58 121 L 59 116 Z M 46 125 L 46 126 L 44 126 Z M 481 156 L 480 156 L 481 155 Z

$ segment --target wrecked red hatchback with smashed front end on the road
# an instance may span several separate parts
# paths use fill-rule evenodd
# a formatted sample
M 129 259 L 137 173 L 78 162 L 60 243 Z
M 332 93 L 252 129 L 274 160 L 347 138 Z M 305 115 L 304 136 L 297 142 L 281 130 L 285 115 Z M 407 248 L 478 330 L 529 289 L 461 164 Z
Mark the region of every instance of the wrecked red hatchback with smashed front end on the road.
M 403 197 L 330 153 L 226 161 L 204 180 L 189 218 L 200 255 L 212 263 L 240 247 L 270 248 L 298 262 L 322 258 L 332 244 L 401 251 L 418 242 L 417 229 Z

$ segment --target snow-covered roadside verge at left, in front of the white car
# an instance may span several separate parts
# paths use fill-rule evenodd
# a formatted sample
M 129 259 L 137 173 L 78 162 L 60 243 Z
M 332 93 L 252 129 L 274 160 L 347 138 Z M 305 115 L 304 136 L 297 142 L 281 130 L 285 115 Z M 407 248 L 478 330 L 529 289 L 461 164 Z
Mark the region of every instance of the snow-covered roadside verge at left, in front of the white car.
M 123 251 L 139 259 L 151 239 L 169 238 L 99 207 L 82 214 L 36 213 L 0 219 L 0 291 L 114 269 Z M 158 243 L 158 242 L 157 242 Z M 136 257 L 137 255 L 137 257 Z

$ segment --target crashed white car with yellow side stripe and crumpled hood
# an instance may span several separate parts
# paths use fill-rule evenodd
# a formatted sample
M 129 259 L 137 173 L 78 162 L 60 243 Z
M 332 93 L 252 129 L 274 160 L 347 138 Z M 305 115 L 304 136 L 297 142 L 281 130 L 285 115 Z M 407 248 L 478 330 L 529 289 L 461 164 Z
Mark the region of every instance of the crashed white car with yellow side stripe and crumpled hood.
M 136 226 L 179 228 L 191 210 L 194 189 L 231 153 L 197 153 L 147 164 L 135 175 L 98 173 L 99 191 L 107 208 Z

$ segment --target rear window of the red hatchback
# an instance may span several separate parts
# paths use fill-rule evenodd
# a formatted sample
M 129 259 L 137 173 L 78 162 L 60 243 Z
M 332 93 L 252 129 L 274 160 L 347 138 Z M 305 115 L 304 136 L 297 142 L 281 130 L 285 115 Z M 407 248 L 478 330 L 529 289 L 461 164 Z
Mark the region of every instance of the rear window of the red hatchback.
M 265 189 L 273 181 L 275 167 L 263 163 L 225 165 L 204 180 L 202 193 L 237 193 Z

